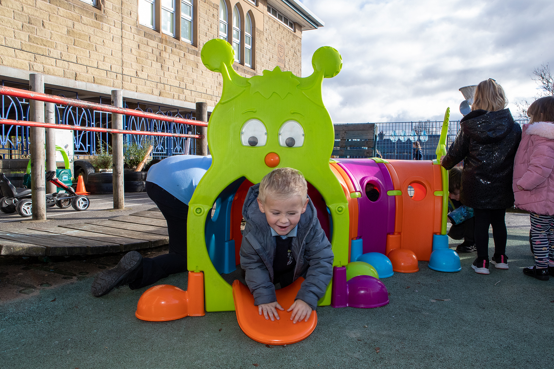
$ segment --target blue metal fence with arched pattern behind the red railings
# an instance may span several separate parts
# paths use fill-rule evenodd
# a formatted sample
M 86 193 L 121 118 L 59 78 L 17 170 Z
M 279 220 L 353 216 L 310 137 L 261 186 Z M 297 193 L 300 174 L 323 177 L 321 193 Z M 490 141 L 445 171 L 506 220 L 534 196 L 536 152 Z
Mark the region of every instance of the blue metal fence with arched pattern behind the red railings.
M 27 90 L 28 86 L 11 81 L 2 81 L 3 86 L 17 87 Z M 52 90 L 47 91 L 52 95 L 71 97 L 81 100 L 94 101 L 98 103 L 111 103 L 109 97 L 102 96 L 79 96 L 77 92 Z M 66 96 L 69 95 L 69 96 Z M 29 101 L 11 96 L 0 96 L 1 109 L 0 118 L 15 119 L 21 121 L 29 120 Z M 190 111 L 179 111 L 175 108 L 160 105 L 148 105 L 145 103 L 126 103 L 136 106 L 136 110 L 156 112 L 166 116 L 177 116 L 187 119 L 195 119 Z M 57 124 L 69 124 L 72 126 L 83 127 L 111 127 L 111 113 L 89 110 L 84 108 L 56 105 L 55 122 Z M 188 133 L 196 134 L 196 126 L 182 123 L 170 123 L 158 121 L 156 119 L 147 119 L 139 117 L 124 116 L 124 129 L 133 129 L 137 131 L 148 132 L 168 132 L 168 133 Z M 100 146 L 107 150 L 111 145 L 111 134 L 101 132 L 74 131 L 74 151 L 75 155 L 95 155 Z M 179 137 L 140 137 L 138 135 L 125 134 L 124 144 L 132 143 L 143 145 L 153 145 L 152 158 L 163 159 L 178 154 L 196 153 L 196 140 L 189 141 L 188 150 L 186 150 L 186 139 Z M 187 151 L 187 152 L 186 152 Z M 18 159 L 29 157 L 29 127 L 13 126 L 2 124 L 0 132 L 0 156 L 2 159 Z

